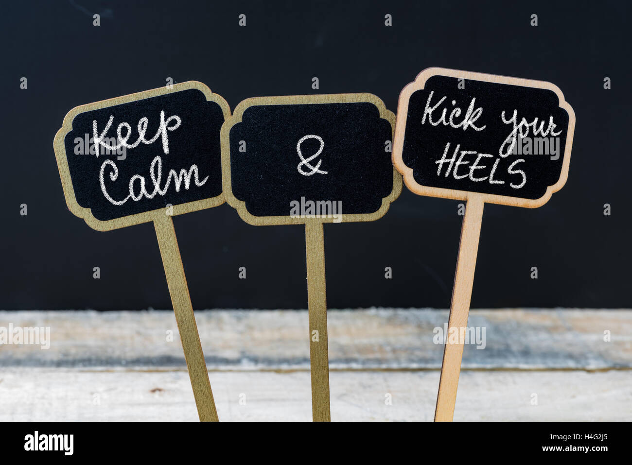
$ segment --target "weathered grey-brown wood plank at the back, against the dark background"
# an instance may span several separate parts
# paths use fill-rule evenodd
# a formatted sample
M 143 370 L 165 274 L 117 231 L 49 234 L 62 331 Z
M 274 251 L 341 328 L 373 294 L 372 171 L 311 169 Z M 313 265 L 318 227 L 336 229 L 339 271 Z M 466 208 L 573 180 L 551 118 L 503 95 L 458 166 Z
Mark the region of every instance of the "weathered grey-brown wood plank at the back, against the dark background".
M 309 370 L 307 310 L 196 311 L 209 370 Z M 447 310 L 328 310 L 331 370 L 436 370 Z M 4 345 L 0 366 L 185 366 L 172 311 L 0 311 L 0 327 L 50 327 L 51 347 Z M 632 310 L 471 310 L 485 349 L 463 370 L 632 368 Z M 611 342 L 604 342 L 604 330 Z

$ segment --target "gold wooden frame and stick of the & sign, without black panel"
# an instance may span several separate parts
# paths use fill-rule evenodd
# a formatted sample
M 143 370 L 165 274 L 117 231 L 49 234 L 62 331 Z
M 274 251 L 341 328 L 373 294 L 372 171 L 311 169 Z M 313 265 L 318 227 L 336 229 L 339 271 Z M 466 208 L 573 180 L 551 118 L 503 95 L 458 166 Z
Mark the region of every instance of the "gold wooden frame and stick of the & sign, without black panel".
M 231 183 L 230 130 L 241 123 L 243 112 L 253 106 L 269 105 L 310 105 L 368 102 L 379 109 L 380 118 L 386 119 L 394 131 L 395 115 L 386 109 L 384 102 L 374 94 L 324 94 L 324 95 L 286 95 L 281 97 L 252 97 L 243 100 L 235 107 L 233 116 L 222 126 L 222 183 L 226 203 L 235 208 L 246 223 L 254 226 L 280 226 L 285 224 L 305 224 L 305 251 L 307 255 L 307 295 L 310 336 L 310 366 L 312 372 L 312 416 L 314 421 L 329 421 L 329 353 L 327 349 L 327 300 L 325 292 L 325 250 L 323 223 L 333 222 L 333 218 L 300 218 L 286 216 L 261 217 L 250 214 L 246 202 L 233 195 Z M 382 198 L 380 208 L 370 214 L 343 215 L 342 222 L 373 221 L 386 214 L 389 206 L 401 193 L 402 179 L 393 169 L 391 193 Z M 319 341 L 312 341 L 312 332 L 318 331 Z

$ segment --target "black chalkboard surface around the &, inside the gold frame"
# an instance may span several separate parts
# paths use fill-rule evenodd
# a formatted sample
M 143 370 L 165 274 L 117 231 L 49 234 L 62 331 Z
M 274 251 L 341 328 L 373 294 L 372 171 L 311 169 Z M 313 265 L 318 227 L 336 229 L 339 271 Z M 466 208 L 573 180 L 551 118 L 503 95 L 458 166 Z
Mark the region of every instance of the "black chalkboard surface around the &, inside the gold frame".
M 326 173 L 298 172 L 296 143 L 308 134 L 323 140 L 322 152 L 310 164 L 322 160 L 320 171 Z M 239 151 L 240 140 L 246 142 L 245 153 Z M 342 202 L 342 212 L 336 211 L 343 215 L 377 212 L 393 190 L 387 140 L 392 140 L 391 123 L 372 103 L 252 106 L 231 128 L 233 195 L 255 216 L 288 216 L 290 202 L 301 197 Z M 303 158 L 319 148 L 319 140 L 304 140 Z M 312 171 L 305 165 L 303 170 Z

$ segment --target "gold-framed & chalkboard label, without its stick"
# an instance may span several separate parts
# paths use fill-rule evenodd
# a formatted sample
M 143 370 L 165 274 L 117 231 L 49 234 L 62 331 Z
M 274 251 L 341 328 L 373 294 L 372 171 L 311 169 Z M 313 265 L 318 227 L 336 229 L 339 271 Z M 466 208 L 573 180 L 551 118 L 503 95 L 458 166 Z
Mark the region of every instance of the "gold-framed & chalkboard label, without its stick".
M 372 94 L 257 97 L 222 127 L 226 201 L 250 224 L 374 220 L 401 192 Z

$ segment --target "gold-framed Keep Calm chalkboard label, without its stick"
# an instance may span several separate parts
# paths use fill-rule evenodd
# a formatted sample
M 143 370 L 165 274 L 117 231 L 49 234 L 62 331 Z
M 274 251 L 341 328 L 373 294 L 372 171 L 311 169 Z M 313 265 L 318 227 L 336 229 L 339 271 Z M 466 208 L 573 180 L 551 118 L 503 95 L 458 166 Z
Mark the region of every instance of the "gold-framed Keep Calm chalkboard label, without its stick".
M 69 205 L 102 229 L 124 217 L 151 220 L 138 215 L 170 205 L 176 215 L 222 203 L 219 135 L 228 115 L 198 82 L 73 109 L 56 142 Z

